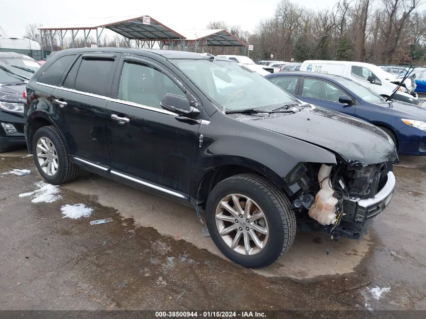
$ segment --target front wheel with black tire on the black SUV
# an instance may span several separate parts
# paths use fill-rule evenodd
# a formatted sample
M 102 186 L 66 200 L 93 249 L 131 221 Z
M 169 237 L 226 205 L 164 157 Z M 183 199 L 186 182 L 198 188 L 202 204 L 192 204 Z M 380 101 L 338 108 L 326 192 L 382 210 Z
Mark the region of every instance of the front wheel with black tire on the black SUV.
M 235 199 L 240 212 L 245 210 L 246 203 L 251 203 L 249 219 L 245 212 L 242 218 L 242 214 L 234 214 L 235 208 L 238 210 Z M 233 213 L 222 206 L 226 203 L 234 209 Z M 264 217 L 255 220 L 262 212 Z M 287 197 L 268 179 L 255 174 L 234 175 L 219 182 L 209 194 L 206 221 L 220 251 L 231 261 L 248 268 L 274 263 L 290 248 L 296 234 L 296 220 Z M 224 234 L 231 226 L 235 229 Z M 238 231 L 242 234 L 238 235 Z M 257 235 L 260 245 L 256 244 L 253 234 Z M 246 246 L 246 238 L 250 239 L 250 245 Z

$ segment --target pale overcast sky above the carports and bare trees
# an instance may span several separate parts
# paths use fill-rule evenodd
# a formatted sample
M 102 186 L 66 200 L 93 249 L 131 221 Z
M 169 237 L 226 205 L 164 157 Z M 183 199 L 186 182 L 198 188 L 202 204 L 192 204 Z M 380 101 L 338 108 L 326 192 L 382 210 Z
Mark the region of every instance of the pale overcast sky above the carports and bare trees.
M 90 17 L 151 16 L 171 29 L 205 29 L 209 21 L 225 21 L 253 32 L 270 18 L 279 0 L 2 0 L 0 27 L 9 37 L 22 37 L 29 23 L 51 25 Z M 298 0 L 294 2 L 300 3 Z M 331 8 L 337 0 L 304 0 L 311 9 Z M 426 0 L 425 0 L 426 3 Z M 426 5 L 422 5 L 426 9 Z M 1 32 L 1 30 L 0 30 Z

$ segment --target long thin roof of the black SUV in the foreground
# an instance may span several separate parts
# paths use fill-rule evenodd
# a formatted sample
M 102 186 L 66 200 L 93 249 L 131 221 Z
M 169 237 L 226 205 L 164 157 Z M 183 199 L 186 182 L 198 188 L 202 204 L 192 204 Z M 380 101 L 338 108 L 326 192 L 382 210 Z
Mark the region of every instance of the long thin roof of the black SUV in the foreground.
M 127 53 L 140 55 L 141 53 L 148 53 L 153 55 L 162 56 L 165 59 L 208 59 L 209 56 L 202 53 L 187 52 L 187 51 L 173 51 L 173 50 L 160 50 L 160 49 L 141 49 L 141 48 L 116 48 L 116 47 L 102 47 L 102 48 L 75 48 L 65 49 L 57 52 L 56 55 L 61 56 L 72 53 Z

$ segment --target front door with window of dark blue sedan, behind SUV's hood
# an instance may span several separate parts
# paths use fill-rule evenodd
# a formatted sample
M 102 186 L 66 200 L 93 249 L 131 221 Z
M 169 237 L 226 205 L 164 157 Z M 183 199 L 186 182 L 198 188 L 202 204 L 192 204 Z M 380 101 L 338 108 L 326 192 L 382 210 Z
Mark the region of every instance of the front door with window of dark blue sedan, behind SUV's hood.
M 297 98 L 302 101 L 327 107 L 348 115 L 355 114 L 355 106 L 339 103 L 339 97 L 341 95 L 348 95 L 352 98 L 353 103 L 355 99 L 331 82 L 322 79 L 303 77 L 298 94 L 299 96 L 297 96 Z

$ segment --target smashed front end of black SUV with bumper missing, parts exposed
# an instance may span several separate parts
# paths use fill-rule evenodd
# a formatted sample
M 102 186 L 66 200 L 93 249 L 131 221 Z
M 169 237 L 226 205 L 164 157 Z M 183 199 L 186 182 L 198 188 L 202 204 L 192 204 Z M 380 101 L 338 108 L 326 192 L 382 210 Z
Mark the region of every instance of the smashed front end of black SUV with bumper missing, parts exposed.
M 289 179 L 285 190 L 301 228 L 326 231 L 336 240 L 359 239 L 389 204 L 395 186 L 392 162 L 299 163 Z

